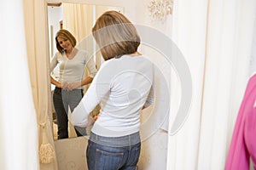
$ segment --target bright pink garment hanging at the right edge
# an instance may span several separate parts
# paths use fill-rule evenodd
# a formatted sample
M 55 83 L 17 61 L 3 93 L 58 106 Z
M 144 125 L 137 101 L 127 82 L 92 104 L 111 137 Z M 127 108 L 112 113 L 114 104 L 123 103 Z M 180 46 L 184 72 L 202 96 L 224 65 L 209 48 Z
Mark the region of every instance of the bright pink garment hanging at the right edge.
M 225 170 L 248 170 L 250 156 L 256 167 L 256 74 L 247 83 L 247 89 L 236 118 Z

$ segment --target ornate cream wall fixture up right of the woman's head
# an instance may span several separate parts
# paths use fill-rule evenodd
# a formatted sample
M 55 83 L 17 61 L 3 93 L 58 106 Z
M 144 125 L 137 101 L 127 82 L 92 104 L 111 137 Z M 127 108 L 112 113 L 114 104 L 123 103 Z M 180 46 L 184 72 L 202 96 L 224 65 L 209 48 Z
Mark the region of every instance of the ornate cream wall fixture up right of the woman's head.
M 172 14 L 173 0 L 153 0 L 148 4 L 149 15 L 154 20 L 164 21 Z

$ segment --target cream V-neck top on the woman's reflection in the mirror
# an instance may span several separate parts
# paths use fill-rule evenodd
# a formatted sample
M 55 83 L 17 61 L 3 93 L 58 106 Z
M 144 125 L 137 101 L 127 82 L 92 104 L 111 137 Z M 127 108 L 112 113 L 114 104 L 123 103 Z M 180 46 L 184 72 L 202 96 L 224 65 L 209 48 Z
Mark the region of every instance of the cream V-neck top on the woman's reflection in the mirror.
M 84 77 L 85 65 L 90 72 L 90 77 L 95 77 L 96 75 L 95 63 L 85 50 L 79 50 L 73 59 L 68 59 L 66 54 L 57 52 L 50 62 L 50 71 L 53 71 L 56 65 L 59 65 L 60 77 L 58 77 L 58 82 L 61 83 L 81 82 Z

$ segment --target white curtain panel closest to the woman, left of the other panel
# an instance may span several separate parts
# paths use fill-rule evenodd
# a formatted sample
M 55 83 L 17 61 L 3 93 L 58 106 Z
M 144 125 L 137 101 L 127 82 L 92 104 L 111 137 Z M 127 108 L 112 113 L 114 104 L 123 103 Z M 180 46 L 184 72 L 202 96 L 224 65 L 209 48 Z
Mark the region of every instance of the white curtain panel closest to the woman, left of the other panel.
M 171 38 L 189 65 L 193 103 L 183 127 L 176 134 L 169 135 L 167 169 L 197 169 L 205 62 L 206 8 L 206 1 L 174 1 Z M 171 78 L 171 88 L 176 86 L 177 82 Z M 175 114 L 172 112 L 173 107 L 177 107 L 178 104 L 175 99 L 178 99 L 178 96 L 172 96 L 170 122 L 172 115 Z M 172 124 L 169 127 L 172 127 Z

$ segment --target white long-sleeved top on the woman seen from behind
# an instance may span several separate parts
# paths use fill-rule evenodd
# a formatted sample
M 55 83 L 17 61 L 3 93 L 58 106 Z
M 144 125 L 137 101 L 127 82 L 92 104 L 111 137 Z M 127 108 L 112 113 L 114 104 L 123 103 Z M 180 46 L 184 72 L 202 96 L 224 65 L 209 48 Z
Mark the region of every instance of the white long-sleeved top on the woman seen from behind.
M 123 55 L 105 61 L 84 98 L 74 109 L 73 125 L 86 127 L 87 117 L 101 102 L 91 132 L 105 137 L 137 133 L 140 110 L 154 102 L 154 65 L 142 55 Z

